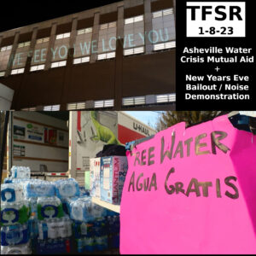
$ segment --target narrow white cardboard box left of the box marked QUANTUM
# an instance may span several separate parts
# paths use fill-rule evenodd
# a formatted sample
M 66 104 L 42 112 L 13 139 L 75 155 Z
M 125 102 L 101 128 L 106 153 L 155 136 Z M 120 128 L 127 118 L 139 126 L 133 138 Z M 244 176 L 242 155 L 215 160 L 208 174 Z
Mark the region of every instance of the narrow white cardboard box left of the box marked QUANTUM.
M 90 158 L 90 196 L 101 198 L 101 158 Z

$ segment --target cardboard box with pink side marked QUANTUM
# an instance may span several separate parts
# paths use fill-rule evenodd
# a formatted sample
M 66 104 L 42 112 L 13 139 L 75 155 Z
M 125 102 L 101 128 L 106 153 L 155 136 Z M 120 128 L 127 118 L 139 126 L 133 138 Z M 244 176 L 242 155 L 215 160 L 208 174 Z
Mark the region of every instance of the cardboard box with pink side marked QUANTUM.
M 101 159 L 101 200 L 119 205 L 128 164 L 126 156 L 109 156 Z

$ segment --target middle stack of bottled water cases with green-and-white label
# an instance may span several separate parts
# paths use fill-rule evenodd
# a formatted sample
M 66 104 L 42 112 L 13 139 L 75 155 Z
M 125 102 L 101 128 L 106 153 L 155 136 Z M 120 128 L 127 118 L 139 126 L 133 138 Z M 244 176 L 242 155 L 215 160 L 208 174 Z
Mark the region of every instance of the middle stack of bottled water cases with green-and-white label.
M 67 191 L 64 189 L 63 193 Z M 72 221 L 64 214 L 55 183 L 32 180 L 25 186 L 25 196 L 32 208 L 31 227 L 35 253 L 70 253 Z

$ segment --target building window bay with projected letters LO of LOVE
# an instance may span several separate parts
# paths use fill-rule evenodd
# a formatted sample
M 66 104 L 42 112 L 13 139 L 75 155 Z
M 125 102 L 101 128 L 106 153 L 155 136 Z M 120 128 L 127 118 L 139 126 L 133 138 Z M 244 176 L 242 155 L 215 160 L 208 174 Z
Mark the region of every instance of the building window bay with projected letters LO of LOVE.
M 116 50 L 116 21 L 100 26 L 98 41 L 98 61 L 115 58 Z

